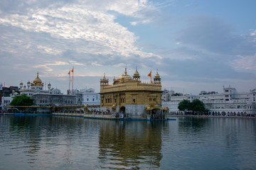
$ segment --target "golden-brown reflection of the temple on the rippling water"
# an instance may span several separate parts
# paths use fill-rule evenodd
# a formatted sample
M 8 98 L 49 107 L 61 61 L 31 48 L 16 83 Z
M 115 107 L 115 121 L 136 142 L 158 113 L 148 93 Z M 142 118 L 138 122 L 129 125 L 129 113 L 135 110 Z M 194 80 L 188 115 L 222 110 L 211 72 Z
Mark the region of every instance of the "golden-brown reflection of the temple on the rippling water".
M 101 168 L 160 167 L 161 131 L 166 122 L 107 121 L 100 126 Z M 142 166 L 143 165 L 143 166 Z

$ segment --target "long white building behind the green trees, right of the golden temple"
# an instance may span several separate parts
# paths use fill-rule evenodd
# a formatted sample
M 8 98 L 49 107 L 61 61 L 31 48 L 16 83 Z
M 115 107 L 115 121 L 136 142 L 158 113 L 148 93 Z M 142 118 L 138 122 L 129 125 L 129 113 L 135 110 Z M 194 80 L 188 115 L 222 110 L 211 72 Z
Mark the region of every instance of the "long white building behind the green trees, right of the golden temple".
M 168 106 L 171 113 L 178 112 L 178 103 L 183 100 L 203 101 L 211 115 L 255 115 L 256 114 L 256 89 L 245 93 L 238 93 L 233 87 L 223 86 L 223 94 L 218 92 L 201 91 L 199 95 L 171 96 L 169 101 L 162 106 Z

